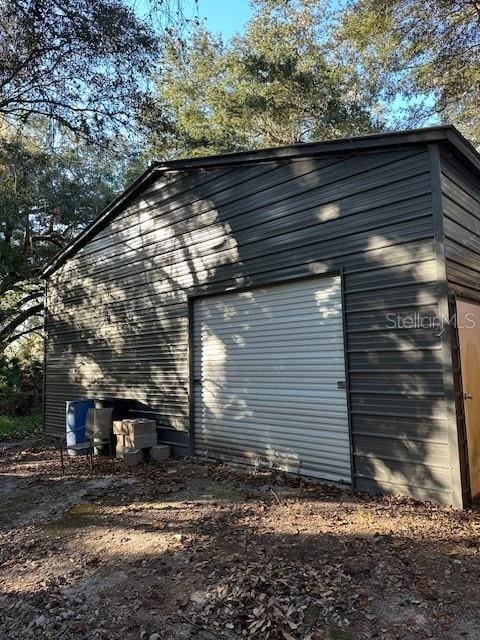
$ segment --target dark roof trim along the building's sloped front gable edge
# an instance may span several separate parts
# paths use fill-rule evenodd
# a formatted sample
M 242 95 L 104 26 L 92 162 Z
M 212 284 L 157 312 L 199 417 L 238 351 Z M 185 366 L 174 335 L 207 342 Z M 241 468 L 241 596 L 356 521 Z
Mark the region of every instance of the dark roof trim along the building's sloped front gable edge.
M 44 268 L 42 276 L 47 278 L 56 271 L 68 258 L 86 244 L 93 236 L 103 229 L 112 218 L 133 197 L 152 182 L 158 173 L 165 171 L 193 171 L 196 169 L 240 166 L 255 162 L 276 162 L 278 160 L 313 157 L 318 155 L 357 153 L 388 149 L 403 145 L 445 144 L 461 156 L 480 173 L 480 155 L 475 147 L 464 138 L 452 125 L 414 129 L 411 131 L 393 131 L 390 133 L 376 133 L 365 136 L 340 138 L 325 142 L 309 142 L 287 147 L 273 147 L 258 151 L 242 151 L 239 153 L 225 153 L 203 158 L 186 160 L 172 160 L 170 162 L 155 162 L 141 176 L 139 176 L 118 198 L 115 198 L 67 247 L 58 253 Z

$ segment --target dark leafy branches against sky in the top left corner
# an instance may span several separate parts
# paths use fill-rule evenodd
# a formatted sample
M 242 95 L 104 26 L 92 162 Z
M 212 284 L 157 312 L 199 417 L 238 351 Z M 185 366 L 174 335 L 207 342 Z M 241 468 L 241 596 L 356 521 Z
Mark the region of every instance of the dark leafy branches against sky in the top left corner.
M 158 44 L 121 0 L 2 2 L 0 115 L 15 125 L 41 116 L 103 138 L 128 125 L 144 99 Z

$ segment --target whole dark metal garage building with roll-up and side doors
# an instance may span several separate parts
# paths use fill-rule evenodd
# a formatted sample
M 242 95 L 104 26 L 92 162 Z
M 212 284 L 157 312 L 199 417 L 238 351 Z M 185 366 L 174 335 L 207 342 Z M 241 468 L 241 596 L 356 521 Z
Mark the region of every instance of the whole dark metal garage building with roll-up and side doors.
M 131 398 L 179 453 L 468 503 L 479 174 L 452 127 L 152 165 L 44 271 L 46 431 Z

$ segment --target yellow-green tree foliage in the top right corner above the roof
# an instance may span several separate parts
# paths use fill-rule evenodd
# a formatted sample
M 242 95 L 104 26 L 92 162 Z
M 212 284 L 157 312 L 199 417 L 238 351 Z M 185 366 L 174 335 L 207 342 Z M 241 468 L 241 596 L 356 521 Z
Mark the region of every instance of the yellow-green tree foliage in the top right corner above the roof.
M 480 142 L 479 2 L 355 0 L 341 21 L 337 45 L 401 124 L 452 121 Z

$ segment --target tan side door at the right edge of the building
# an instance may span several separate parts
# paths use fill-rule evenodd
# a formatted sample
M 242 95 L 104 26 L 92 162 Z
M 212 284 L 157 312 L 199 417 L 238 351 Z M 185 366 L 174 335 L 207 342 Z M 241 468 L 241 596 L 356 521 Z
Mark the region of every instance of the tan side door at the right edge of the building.
M 480 304 L 457 300 L 457 326 L 470 488 L 475 498 L 480 494 Z

